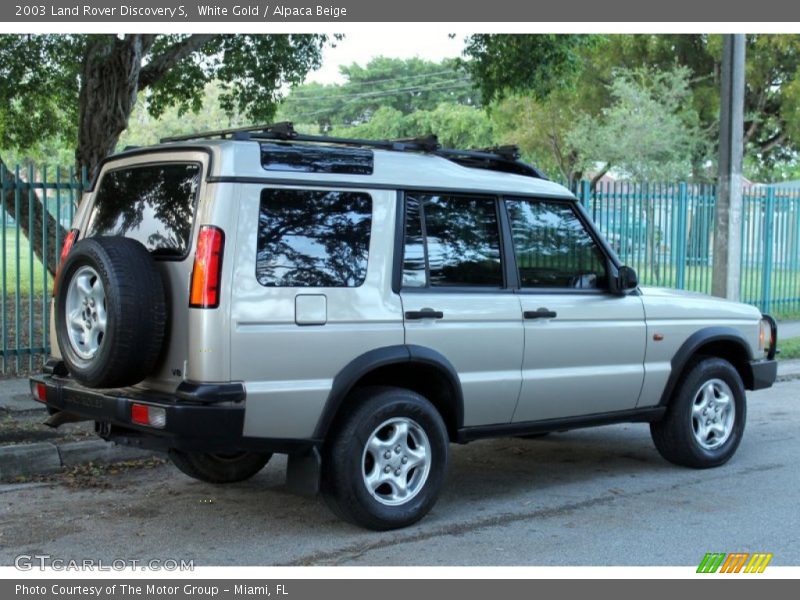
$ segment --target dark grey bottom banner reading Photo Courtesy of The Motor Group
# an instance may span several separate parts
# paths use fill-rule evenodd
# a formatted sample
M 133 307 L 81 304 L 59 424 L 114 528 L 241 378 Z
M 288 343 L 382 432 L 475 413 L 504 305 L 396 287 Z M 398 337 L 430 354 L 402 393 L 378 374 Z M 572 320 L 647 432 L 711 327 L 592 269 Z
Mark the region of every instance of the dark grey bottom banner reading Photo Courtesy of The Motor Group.
M 411 571 L 410 571 L 411 572 Z M 409 572 L 409 574 L 410 574 Z M 744 580 L 743 580 L 744 579 Z M 792 580 L 705 575 L 693 579 L 654 581 L 554 580 L 554 579 L 208 579 L 187 583 L 180 579 L 29 579 L 0 581 L 4 600 L 337 600 L 339 598 L 380 598 L 418 600 L 503 600 L 534 597 L 603 598 L 637 597 L 674 600 L 686 594 L 715 597 L 752 598 L 759 592 L 781 593 L 794 588 Z M 765 590 L 764 586 L 769 589 Z M 713 586 L 713 587 L 712 587 Z M 795 590 L 796 591 L 796 590 Z M 607 595 L 608 594 L 608 595 Z M 613 596 L 611 596 L 613 594 Z

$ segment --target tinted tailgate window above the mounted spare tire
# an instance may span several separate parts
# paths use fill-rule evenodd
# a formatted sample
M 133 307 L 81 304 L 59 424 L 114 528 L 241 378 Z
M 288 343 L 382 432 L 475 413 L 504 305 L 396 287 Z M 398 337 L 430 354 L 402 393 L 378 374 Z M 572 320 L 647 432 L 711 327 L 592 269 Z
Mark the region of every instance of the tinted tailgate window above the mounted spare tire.
M 200 173 L 197 163 L 107 172 L 95 192 L 87 237 L 119 235 L 137 240 L 156 256 L 185 256 Z

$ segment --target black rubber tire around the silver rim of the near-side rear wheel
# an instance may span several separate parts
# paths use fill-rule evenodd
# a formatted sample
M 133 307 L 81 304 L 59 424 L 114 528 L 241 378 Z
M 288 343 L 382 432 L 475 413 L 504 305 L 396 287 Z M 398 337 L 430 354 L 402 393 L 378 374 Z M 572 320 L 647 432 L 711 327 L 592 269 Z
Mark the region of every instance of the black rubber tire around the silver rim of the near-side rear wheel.
M 449 438 L 444 421 L 428 400 L 401 388 L 364 388 L 356 392 L 351 400 L 351 406 L 354 407 L 352 412 L 337 423 L 331 439 L 323 449 L 321 486 L 323 497 L 337 516 L 355 525 L 377 531 L 407 527 L 419 521 L 431 510 L 444 483 L 449 450 Z M 409 452 L 419 452 L 417 442 L 414 440 L 420 439 L 418 437 L 420 430 L 424 432 L 427 437 L 430 462 L 427 463 L 427 472 L 417 473 L 415 469 L 418 467 L 401 471 L 400 477 L 409 483 L 410 489 L 413 490 L 416 485 L 416 491 L 413 495 L 409 492 L 411 497 L 407 501 L 390 506 L 376 499 L 378 496 L 374 496 L 367 489 L 364 472 L 365 466 L 370 461 L 373 463 L 372 468 L 377 468 L 379 464 L 371 458 L 370 453 L 366 452 L 367 441 L 376 431 L 383 432 L 383 429 L 379 430 L 380 426 L 393 419 L 397 422 L 410 423 L 414 434 L 407 435 L 403 440 L 403 444 L 411 448 Z M 387 427 L 387 431 L 392 433 L 393 425 Z M 402 464 L 405 463 L 401 464 L 398 461 L 407 458 L 404 452 L 397 453 L 391 458 L 397 463 L 393 465 L 401 470 L 404 469 Z M 427 474 L 423 475 L 424 473 Z M 417 477 L 419 479 L 416 479 L 415 484 Z M 381 487 L 378 487 L 376 494 L 380 495 L 380 490 Z

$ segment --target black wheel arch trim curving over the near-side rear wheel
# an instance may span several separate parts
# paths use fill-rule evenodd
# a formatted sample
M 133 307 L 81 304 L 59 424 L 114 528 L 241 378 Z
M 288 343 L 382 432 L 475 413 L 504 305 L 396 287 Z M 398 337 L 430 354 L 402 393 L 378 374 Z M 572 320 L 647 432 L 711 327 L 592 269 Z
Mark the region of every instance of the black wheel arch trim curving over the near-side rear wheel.
M 453 409 L 456 415 L 455 427 L 460 429 L 464 422 L 464 397 L 455 367 L 443 354 L 436 350 L 414 344 L 398 344 L 365 352 L 354 358 L 339 371 L 333 379 L 331 391 L 325 401 L 322 414 L 317 421 L 313 437 L 319 440 L 326 439 L 339 409 L 358 381 L 381 367 L 404 363 L 417 363 L 434 367 L 444 376 L 453 392 L 455 402 Z

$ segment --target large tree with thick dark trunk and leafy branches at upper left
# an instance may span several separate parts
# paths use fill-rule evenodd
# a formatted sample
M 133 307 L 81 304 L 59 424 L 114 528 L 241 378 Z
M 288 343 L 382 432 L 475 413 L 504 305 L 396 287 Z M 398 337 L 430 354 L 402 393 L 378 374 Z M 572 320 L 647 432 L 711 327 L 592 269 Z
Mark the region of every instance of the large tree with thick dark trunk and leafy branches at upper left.
M 148 110 L 198 110 L 211 81 L 222 87 L 229 114 L 268 121 L 285 85 L 300 83 L 320 64 L 321 35 L 0 35 L 0 148 L 28 148 L 64 136 L 75 164 L 92 175 L 113 152 L 140 92 Z M 0 156 L 2 163 L 2 156 Z M 27 203 L 9 213 L 27 227 Z M 34 205 L 34 221 L 48 219 L 51 248 L 58 224 Z M 30 235 L 42 255 L 41 235 Z

